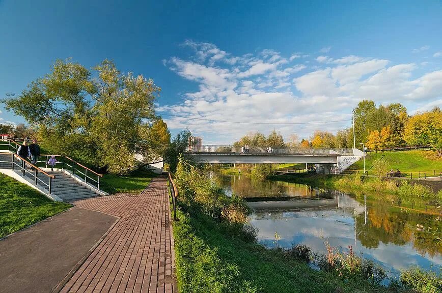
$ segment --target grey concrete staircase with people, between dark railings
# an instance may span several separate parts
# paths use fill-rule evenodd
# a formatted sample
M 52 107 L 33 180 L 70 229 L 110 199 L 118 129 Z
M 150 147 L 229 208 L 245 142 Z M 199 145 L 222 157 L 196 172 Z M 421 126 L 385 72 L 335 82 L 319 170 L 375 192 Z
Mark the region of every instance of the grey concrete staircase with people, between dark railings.
M 3 162 L 2 162 L 3 161 Z M 11 163 L 5 163 L 12 161 L 12 154 L 8 153 L 0 153 L 0 169 L 8 169 L 11 170 Z M 26 172 L 24 177 L 21 173 L 21 168 L 17 165 L 14 166 L 14 172 L 19 174 L 23 180 L 31 183 L 34 188 L 37 188 L 40 192 L 48 194 L 48 187 L 43 185 L 40 181 L 40 184 L 35 186 L 35 177 L 29 172 Z M 85 198 L 98 196 L 100 194 L 96 193 L 93 189 L 88 187 L 85 183 L 79 182 L 76 180 L 73 175 L 68 173 L 67 171 L 46 171 L 47 173 L 54 175 L 55 178 L 52 179 L 51 183 L 51 194 L 50 197 L 54 198 L 53 195 L 59 197 L 63 201 L 69 201 L 77 198 Z M 44 174 L 39 174 L 38 178 L 41 179 L 44 183 L 49 184 L 49 177 Z M 59 199 L 58 199 L 59 200 Z

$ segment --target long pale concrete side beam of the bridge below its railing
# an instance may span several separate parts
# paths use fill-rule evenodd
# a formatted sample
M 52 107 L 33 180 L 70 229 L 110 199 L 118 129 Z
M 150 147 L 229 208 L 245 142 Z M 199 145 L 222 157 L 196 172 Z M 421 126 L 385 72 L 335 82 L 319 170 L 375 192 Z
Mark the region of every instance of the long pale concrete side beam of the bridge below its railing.
M 251 163 L 315 163 L 315 164 L 336 164 L 338 156 L 336 155 L 255 155 L 255 154 L 185 154 L 186 158 L 201 163 L 219 163 L 219 164 L 251 164 Z

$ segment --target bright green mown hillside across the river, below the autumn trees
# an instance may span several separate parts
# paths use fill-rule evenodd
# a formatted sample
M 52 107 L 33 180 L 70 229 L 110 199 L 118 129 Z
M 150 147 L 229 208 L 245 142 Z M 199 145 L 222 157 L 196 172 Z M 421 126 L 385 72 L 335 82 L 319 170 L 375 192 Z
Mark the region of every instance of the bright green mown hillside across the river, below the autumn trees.
M 405 171 L 442 171 L 442 158 L 437 157 L 433 151 L 405 151 L 392 153 L 372 153 L 365 157 L 365 167 L 370 170 L 373 162 L 382 158 L 389 163 L 392 169 Z M 362 170 L 364 168 L 363 160 L 357 161 L 349 167 L 352 170 Z

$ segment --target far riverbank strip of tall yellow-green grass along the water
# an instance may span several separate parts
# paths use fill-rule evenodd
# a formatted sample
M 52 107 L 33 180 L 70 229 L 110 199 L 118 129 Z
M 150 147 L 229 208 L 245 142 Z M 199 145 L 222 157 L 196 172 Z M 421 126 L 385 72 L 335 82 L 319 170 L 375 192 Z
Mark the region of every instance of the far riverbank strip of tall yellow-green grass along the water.
M 361 175 L 325 175 L 309 173 L 289 173 L 271 175 L 267 179 L 309 184 L 315 187 L 343 189 L 346 191 L 375 191 L 394 194 L 403 198 L 420 197 L 425 199 L 442 200 L 442 190 L 428 185 L 425 182 L 409 182 L 407 180 L 380 180 L 376 177 L 361 177 Z

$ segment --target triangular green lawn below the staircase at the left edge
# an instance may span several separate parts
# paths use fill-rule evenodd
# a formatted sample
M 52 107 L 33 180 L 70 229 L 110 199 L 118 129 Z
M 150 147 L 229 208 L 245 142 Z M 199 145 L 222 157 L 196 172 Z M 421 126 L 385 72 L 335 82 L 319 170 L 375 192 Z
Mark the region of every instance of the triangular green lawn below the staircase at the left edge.
M 0 174 L 0 238 L 71 207 Z

